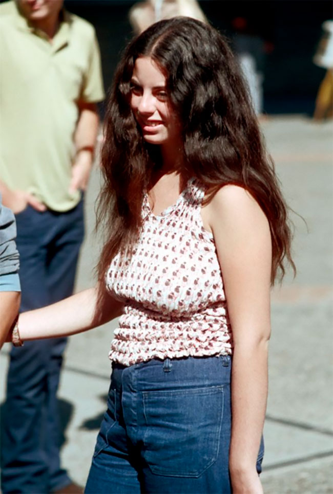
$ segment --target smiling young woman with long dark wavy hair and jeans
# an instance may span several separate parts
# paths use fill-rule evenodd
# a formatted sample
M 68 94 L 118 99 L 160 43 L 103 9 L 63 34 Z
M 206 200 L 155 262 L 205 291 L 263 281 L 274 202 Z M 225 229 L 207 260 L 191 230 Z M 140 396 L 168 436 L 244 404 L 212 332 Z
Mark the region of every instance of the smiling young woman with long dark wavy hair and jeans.
M 200 21 L 162 20 L 118 66 L 102 150 L 95 288 L 13 338 L 121 315 L 86 492 L 262 492 L 269 291 L 286 206 L 238 65 Z

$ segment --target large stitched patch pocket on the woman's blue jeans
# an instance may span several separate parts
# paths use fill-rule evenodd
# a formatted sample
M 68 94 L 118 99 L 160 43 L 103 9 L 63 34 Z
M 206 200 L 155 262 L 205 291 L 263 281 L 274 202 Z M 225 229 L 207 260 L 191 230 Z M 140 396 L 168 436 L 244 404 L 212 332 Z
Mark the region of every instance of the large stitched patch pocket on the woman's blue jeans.
M 217 459 L 223 386 L 143 392 L 143 458 L 154 474 L 199 477 Z

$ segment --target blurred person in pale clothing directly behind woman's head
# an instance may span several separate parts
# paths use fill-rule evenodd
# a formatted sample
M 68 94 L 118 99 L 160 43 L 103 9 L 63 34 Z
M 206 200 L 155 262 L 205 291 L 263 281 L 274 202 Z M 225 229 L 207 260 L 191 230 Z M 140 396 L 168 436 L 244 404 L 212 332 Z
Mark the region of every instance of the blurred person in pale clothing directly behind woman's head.
M 130 23 L 135 34 L 140 34 L 151 24 L 177 15 L 207 22 L 197 0 L 146 0 L 137 2 L 130 9 Z

